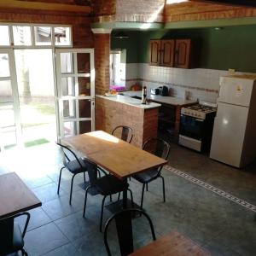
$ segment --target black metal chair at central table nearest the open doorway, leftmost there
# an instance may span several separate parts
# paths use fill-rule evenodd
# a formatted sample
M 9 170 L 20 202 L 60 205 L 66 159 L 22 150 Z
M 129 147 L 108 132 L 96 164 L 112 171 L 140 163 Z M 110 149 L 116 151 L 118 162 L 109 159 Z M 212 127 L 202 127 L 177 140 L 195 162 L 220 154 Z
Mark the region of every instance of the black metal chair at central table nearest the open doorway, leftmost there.
M 69 172 L 73 174 L 72 180 L 71 180 L 71 187 L 70 187 L 70 195 L 69 195 L 69 204 L 71 205 L 72 201 L 72 192 L 73 192 L 73 179 L 74 177 L 79 173 L 84 173 L 84 183 L 86 182 L 85 179 L 85 172 L 86 166 L 84 165 L 84 160 L 81 158 L 78 158 L 77 155 L 71 150 L 70 148 L 67 148 L 64 145 L 61 145 L 61 143 L 56 143 L 61 147 L 62 152 L 62 158 L 63 158 L 63 167 L 61 167 L 60 176 L 59 176 L 59 183 L 58 183 L 58 195 L 60 193 L 60 186 L 61 186 L 61 172 L 64 168 L 66 168 Z

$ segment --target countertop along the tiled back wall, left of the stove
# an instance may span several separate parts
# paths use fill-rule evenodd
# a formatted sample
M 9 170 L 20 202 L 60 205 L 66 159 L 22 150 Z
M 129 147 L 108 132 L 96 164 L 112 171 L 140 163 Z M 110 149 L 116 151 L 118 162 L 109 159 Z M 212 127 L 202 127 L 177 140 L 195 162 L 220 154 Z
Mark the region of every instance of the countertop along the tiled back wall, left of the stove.
M 124 96 L 142 96 L 141 90 L 128 90 L 122 92 Z M 195 101 L 185 100 L 183 98 L 177 98 L 173 96 L 160 96 L 160 95 L 153 95 L 150 94 L 147 96 L 148 100 L 152 100 L 154 102 L 166 103 L 172 106 L 183 106 L 191 103 L 195 103 Z

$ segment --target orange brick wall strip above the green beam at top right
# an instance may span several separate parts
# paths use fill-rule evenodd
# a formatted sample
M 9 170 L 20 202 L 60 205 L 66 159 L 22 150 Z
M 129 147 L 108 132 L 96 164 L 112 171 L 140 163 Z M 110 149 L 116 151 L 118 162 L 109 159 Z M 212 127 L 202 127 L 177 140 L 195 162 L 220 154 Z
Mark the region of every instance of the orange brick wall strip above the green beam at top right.
M 214 20 L 256 16 L 256 9 L 212 3 L 166 4 L 165 21 Z

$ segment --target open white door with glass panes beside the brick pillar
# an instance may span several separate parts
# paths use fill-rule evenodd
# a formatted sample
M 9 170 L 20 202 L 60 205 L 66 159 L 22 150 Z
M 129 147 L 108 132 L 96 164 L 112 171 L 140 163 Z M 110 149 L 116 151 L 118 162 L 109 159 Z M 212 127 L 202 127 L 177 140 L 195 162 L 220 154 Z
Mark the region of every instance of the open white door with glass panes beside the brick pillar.
M 95 130 L 94 49 L 56 49 L 58 139 Z

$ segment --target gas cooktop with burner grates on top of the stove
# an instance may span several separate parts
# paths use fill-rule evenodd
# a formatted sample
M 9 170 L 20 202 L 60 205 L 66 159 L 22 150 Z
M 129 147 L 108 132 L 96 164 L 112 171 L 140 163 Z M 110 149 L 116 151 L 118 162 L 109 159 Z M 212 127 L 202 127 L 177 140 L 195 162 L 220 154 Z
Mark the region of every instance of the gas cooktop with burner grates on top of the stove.
M 217 105 L 209 102 L 199 102 L 181 109 L 181 113 L 195 117 L 197 119 L 206 119 L 207 113 L 216 112 Z

